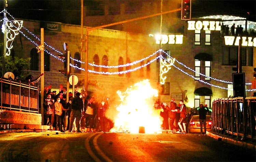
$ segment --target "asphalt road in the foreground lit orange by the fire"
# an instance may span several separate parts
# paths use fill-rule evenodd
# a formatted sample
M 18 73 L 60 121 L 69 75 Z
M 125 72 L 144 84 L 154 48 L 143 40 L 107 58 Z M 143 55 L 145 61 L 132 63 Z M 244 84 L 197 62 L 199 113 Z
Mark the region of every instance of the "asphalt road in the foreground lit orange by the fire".
M 255 150 L 199 134 L 12 132 L 0 161 L 256 161 Z

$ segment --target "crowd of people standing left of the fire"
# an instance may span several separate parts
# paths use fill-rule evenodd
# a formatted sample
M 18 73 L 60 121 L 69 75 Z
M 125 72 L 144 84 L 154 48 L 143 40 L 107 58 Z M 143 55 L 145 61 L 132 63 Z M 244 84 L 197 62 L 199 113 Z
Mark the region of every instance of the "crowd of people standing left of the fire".
M 69 101 L 66 102 L 68 94 Z M 100 103 L 95 95 L 88 96 L 85 91 L 75 95 L 67 93 L 67 88 L 60 85 L 59 93 L 51 92 L 51 87 L 44 88 L 44 125 L 51 130 L 62 132 L 107 132 L 113 127 L 111 120 L 105 117 L 109 108 L 108 99 Z

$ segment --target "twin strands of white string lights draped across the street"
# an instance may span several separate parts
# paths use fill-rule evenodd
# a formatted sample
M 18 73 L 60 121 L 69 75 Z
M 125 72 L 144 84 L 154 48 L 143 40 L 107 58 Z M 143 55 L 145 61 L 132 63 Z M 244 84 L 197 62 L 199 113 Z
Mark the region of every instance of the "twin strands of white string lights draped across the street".
M 0 13 L 2 13 L 2 12 L 3 12 L 3 11 L 1 11 Z M 8 12 L 6 12 L 6 13 L 8 13 Z M 8 14 L 10 15 L 10 13 L 8 13 Z M 11 16 L 11 15 L 10 15 L 10 16 Z M 14 18 L 13 16 L 11 16 L 11 17 L 15 20 L 15 18 Z M 1 21 L 2 21 L 2 20 L 1 20 Z M 33 37 L 35 37 L 36 39 L 38 39 L 38 40 L 40 41 L 40 38 L 38 38 L 36 35 L 34 35 L 32 32 L 30 32 L 27 28 L 25 28 L 25 27 L 23 27 L 23 28 L 24 28 L 29 34 L 31 34 Z M 36 46 L 38 46 L 37 43 L 35 43 L 34 41 L 32 41 L 31 38 L 29 38 L 28 36 L 26 36 L 22 31 L 19 30 L 19 32 L 22 33 L 22 34 L 24 35 L 24 37 L 26 37 L 30 42 L 32 42 L 33 44 L 35 44 Z M 57 53 L 62 53 L 62 52 L 60 52 L 59 50 L 55 49 L 54 47 L 48 45 L 46 42 L 44 42 L 44 44 L 45 44 L 47 47 L 49 47 L 50 49 L 56 51 Z M 59 59 L 57 56 L 55 56 L 54 54 L 52 54 L 52 53 L 49 52 L 48 50 L 45 50 L 45 51 L 46 51 L 46 53 L 48 53 L 48 54 L 50 54 L 51 56 L 53 56 L 55 59 L 58 59 L 58 60 L 64 62 L 62 59 Z M 138 61 L 134 61 L 134 62 L 132 62 L 132 63 L 124 64 L 124 65 L 118 65 L 118 66 L 104 66 L 104 65 L 95 65 L 95 64 L 91 64 L 91 63 L 88 63 L 88 65 L 90 65 L 90 66 L 96 66 L 96 67 L 103 67 L 103 68 L 118 68 L 118 67 L 132 66 L 132 65 L 136 65 L 136 64 L 138 64 L 138 63 L 140 63 L 140 62 L 142 62 L 142 61 L 144 61 L 144 60 L 150 58 L 151 56 L 155 55 L 155 54 L 158 53 L 159 51 L 165 53 L 167 56 L 169 56 L 170 58 L 172 58 L 172 56 L 170 56 L 170 55 L 169 55 L 168 53 L 166 53 L 164 50 L 159 49 L 159 50 L 157 50 L 156 52 L 154 52 L 152 55 L 147 56 L 146 58 L 143 58 L 143 59 L 138 60 Z M 94 71 L 94 70 L 89 70 L 89 69 L 88 69 L 88 72 L 93 72 L 93 73 L 97 73 L 97 74 L 105 74 L 105 75 L 125 74 L 125 73 L 128 73 L 128 72 L 136 71 L 136 70 L 138 70 L 138 69 L 140 69 L 140 68 L 142 68 L 142 67 L 145 67 L 145 66 L 151 64 L 152 62 L 156 61 L 159 57 L 165 59 L 164 57 L 162 57 L 162 55 L 159 55 L 159 56 L 157 56 L 155 59 L 153 59 L 153 60 L 147 62 L 146 64 L 144 64 L 144 65 L 142 65 L 142 66 L 139 66 L 139 67 L 136 67 L 136 68 L 133 68 L 133 69 L 129 69 L 129 70 L 125 70 L 125 71 L 119 71 L 119 72 L 98 72 L 98 71 Z M 74 60 L 74 61 L 76 61 L 76 62 L 82 63 L 82 64 L 85 63 L 85 62 L 82 62 L 81 60 L 73 59 L 71 56 L 70 56 L 70 59 L 72 59 L 72 60 Z M 195 72 L 195 73 L 198 73 L 198 74 L 201 75 L 201 76 L 204 76 L 204 77 L 207 77 L 207 78 L 216 80 L 216 81 L 220 81 L 220 82 L 232 84 L 232 82 L 230 82 L 230 81 L 224 81 L 224 80 L 212 78 L 212 77 L 209 77 L 209 76 L 205 76 L 204 74 L 201 74 L 200 72 L 197 72 L 197 71 L 195 71 L 194 69 L 192 69 L 192 68 L 190 68 L 190 67 L 187 67 L 185 64 L 179 62 L 178 60 L 175 60 L 175 61 L 176 61 L 177 63 L 179 63 L 180 65 L 184 66 L 185 68 L 187 68 L 187 69 L 189 69 L 189 70 L 191 70 L 191 71 L 193 71 L 193 72 Z M 85 71 L 84 68 L 77 67 L 76 65 L 73 65 L 73 64 L 71 64 L 71 63 L 70 63 L 70 66 L 73 67 L 73 68 L 76 68 L 76 69 L 80 69 L 80 70 Z M 177 67 L 177 66 L 175 66 L 175 65 L 173 65 L 173 66 L 174 66 L 176 69 L 179 69 L 181 72 L 185 73 L 186 75 L 190 76 L 191 78 L 194 78 L 195 80 L 198 80 L 198 81 L 200 81 L 200 82 L 203 82 L 203 83 L 205 83 L 205 84 L 208 84 L 208 85 L 211 85 L 211 86 L 214 86 L 214 87 L 218 87 L 218 88 L 222 88 L 222 89 L 228 90 L 228 88 L 221 87 L 221 86 L 217 86 L 217 85 L 213 85 L 213 84 L 210 84 L 210 83 L 205 82 L 205 81 L 203 81 L 203 80 L 197 79 L 197 78 L 195 78 L 193 75 L 188 74 L 187 72 L 185 72 L 184 70 L 180 69 L 179 67 Z M 245 83 L 245 85 L 251 85 L 251 84 L 252 84 L 252 83 Z M 246 91 L 255 91 L 255 89 L 246 90 Z

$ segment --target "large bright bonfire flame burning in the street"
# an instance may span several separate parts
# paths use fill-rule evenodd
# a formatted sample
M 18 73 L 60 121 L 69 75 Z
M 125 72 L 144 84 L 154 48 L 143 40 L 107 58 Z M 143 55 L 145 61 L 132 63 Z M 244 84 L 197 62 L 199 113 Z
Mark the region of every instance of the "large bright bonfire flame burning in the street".
M 128 87 L 125 92 L 117 91 L 117 94 L 121 103 L 116 107 L 118 113 L 111 132 L 138 133 L 140 127 L 145 128 L 145 133 L 160 130 L 162 117 L 154 108 L 158 91 L 151 87 L 148 79 Z

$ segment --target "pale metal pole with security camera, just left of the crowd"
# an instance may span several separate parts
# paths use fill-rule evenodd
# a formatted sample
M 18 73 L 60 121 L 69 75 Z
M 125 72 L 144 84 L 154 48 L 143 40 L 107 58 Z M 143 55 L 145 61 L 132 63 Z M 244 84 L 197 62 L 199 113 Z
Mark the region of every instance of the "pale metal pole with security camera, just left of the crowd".
M 41 45 L 44 45 L 44 28 L 41 28 Z M 41 74 L 44 73 L 44 47 L 41 49 Z M 41 115 L 42 125 L 44 125 L 44 76 L 41 77 Z

